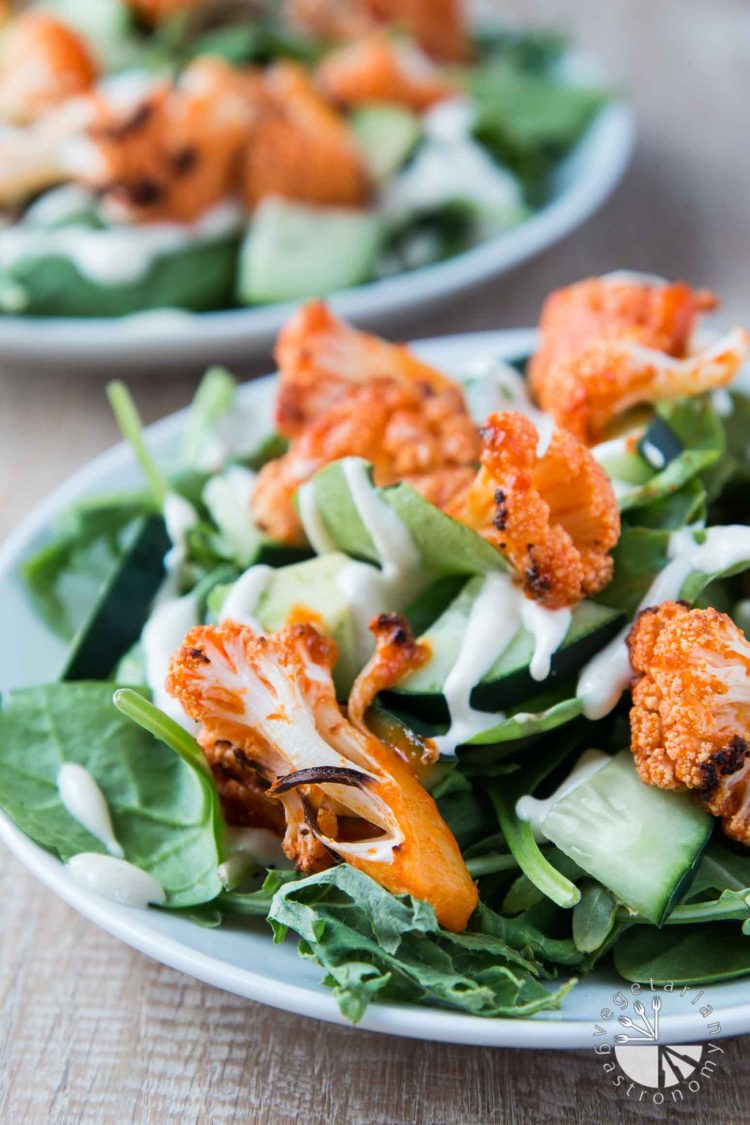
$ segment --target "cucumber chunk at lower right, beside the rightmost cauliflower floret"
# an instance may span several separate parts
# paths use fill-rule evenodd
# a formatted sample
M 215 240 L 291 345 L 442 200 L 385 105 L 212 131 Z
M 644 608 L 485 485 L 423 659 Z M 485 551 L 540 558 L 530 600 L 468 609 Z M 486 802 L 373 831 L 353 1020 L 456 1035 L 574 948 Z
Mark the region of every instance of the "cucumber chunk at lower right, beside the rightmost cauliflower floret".
M 630 750 L 621 750 L 555 801 L 540 827 L 629 909 L 660 926 L 693 876 L 713 819 L 687 793 L 644 785 Z

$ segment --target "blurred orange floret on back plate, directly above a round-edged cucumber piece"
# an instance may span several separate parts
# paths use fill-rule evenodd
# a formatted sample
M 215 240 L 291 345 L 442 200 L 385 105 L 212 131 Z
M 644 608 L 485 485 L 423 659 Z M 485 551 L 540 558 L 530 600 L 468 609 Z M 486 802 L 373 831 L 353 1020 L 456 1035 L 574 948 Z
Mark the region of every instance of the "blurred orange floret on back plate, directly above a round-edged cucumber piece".
M 342 106 L 392 102 L 422 111 L 457 92 L 417 46 L 378 33 L 332 52 L 317 76 L 325 93 Z

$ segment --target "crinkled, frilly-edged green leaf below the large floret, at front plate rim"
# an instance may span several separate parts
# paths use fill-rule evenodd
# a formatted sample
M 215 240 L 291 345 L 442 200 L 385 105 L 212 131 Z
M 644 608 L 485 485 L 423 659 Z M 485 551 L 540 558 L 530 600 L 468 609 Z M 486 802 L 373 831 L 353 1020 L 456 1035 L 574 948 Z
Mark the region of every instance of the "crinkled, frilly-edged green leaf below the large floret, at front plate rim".
M 571 987 L 545 988 L 540 966 L 481 917 L 479 929 L 449 933 L 426 902 L 390 894 L 346 864 L 280 888 L 269 919 L 278 939 L 288 929 L 299 935 L 300 953 L 326 970 L 324 983 L 353 1023 L 376 999 L 531 1015 L 559 1007 Z

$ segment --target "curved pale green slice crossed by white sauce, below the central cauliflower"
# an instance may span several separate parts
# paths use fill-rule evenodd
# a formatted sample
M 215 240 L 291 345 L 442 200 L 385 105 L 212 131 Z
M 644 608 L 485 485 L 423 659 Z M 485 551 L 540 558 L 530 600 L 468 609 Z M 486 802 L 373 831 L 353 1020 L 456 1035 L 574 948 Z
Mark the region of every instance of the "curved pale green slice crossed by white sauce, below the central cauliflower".
M 374 489 L 376 485 L 372 487 Z M 317 472 L 313 488 L 323 523 L 338 550 L 353 558 L 380 562 L 352 498 L 343 461 L 334 461 Z M 503 556 L 487 540 L 445 515 L 409 485 L 378 488 L 377 492 L 408 528 L 419 549 L 422 565 L 431 577 L 507 569 Z

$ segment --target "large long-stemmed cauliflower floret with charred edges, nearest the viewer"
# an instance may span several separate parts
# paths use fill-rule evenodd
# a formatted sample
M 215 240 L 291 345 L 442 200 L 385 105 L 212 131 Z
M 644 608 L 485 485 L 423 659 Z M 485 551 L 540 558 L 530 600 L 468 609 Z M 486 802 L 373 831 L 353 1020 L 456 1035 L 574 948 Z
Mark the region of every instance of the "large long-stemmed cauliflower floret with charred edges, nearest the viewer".
M 477 889 L 455 839 L 398 755 L 342 714 L 334 660 L 311 626 L 273 637 L 234 622 L 201 626 L 172 658 L 166 687 L 204 741 L 245 752 L 269 783 L 291 829 L 287 854 L 299 861 L 306 828 L 336 858 L 394 894 L 425 899 L 443 926 L 461 930 Z

